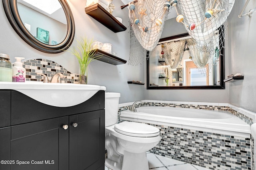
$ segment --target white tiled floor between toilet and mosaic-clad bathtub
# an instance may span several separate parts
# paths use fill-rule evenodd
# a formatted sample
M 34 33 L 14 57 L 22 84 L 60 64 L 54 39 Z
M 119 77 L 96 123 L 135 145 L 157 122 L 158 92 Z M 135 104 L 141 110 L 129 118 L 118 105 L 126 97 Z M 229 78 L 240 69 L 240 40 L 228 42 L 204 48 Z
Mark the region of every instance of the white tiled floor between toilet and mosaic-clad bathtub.
M 150 170 L 207 170 L 206 168 L 187 164 L 164 156 L 147 153 L 148 165 Z M 105 170 L 108 170 L 105 167 Z

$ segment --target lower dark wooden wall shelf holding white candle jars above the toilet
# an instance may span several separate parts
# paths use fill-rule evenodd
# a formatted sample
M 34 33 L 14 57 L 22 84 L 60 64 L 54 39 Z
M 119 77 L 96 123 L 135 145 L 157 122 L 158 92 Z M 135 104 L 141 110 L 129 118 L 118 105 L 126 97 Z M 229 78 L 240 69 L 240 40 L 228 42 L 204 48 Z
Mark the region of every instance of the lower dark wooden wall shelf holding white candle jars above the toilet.
M 113 64 L 113 65 L 119 65 L 119 64 L 125 64 L 127 61 L 120 59 L 112 54 L 106 53 L 105 51 L 102 51 L 100 49 L 96 50 L 95 55 L 97 60 L 103 61 L 105 63 Z M 98 56 L 98 57 L 97 57 Z

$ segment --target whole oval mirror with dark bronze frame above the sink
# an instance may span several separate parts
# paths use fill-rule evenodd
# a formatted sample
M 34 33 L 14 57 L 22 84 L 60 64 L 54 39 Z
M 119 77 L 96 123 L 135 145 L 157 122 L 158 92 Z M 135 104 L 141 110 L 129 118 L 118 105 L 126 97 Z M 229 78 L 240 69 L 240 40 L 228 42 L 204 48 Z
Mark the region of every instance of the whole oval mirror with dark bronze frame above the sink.
M 66 0 L 2 0 L 10 24 L 29 45 L 60 53 L 71 45 L 75 25 Z

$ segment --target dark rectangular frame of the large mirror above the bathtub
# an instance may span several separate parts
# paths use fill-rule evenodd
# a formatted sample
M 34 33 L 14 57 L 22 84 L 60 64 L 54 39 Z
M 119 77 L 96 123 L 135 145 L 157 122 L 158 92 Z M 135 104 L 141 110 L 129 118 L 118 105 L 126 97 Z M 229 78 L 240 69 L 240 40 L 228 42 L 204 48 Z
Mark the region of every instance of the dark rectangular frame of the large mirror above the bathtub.
M 223 30 L 224 27 L 221 26 L 220 29 L 219 29 L 219 33 L 223 33 Z M 168 40 L 171 40 L 171 39 L 177 39 L 177 38 L 181 38 L 181 37 L 186 37 L 186 36 L 189 36 L 188 33 L 184 33 L 184 34 L 180 34 L 180 35 L 175 35 L 175 36 L 172 36 L 172 37 L 166 37 L 166 38 L 162 38 L 159 40 L 159 42 L 162 42 L 162 41 L 168 41 Z M 221 43 L 222 42 L 222 43 Z M 150 80 L 149 80 L 149 75 L 150 75 L 150 71 L 149 71 L 149 59 L 150 59 L 150 56 L 149 56 L 149 51 L 147 51 L 146 53 L 146 65 L 147 65 L 147 89 L 225 89 L 225 84 L 224 84 L 224 75 L 225 75 L 225 72 L 224 72 L 224 48 L 222 47 L 224 46 L 224 38 L 223 36 L 220 35 L 220 51 L 221 51 L 221 55 L 219 57 L 219 60 L 220 60 L 220 85 L 218 86 L 150 86 Z

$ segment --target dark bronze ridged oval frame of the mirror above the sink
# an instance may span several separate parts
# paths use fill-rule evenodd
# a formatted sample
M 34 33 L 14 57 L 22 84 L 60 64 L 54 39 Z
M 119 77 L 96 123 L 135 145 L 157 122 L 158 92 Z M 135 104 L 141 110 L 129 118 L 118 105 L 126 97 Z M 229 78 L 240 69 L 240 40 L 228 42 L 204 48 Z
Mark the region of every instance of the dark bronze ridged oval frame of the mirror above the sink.
M 18 13 L 17 0 L 2 0 L 4 12 L 18 35 L 30 46 L 44 53 L 61 53 L 70 47 L 75 35 L 75 23 L 72 12 L 66 0 L 59 0 L 67 19 L 67 35 L 58 45 L 47 45 L 38 41 L 26 29 Z

